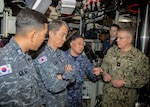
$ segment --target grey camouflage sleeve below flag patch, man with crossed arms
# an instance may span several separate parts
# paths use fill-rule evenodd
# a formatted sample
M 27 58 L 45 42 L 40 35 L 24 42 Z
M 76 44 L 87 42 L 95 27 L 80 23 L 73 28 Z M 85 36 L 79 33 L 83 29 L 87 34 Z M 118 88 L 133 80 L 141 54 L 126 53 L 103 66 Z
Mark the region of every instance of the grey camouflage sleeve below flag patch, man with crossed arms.
M 58 93 L 66 89 L 67 85 L 70 83 L 70 79 L 57 79 L 58 74 L 50 63 L 44 62 L 43 64 L 38 64 L 36 61 L 35 63 L 37 72 L 47 91 Z

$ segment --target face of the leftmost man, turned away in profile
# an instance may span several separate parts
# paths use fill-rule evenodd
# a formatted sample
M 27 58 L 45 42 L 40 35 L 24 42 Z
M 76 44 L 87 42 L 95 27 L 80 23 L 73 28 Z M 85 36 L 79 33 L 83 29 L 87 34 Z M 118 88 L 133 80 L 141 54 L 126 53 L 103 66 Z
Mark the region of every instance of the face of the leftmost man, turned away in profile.
M 47 34 L 47 30 L 48 30 L 48 24 L 45 24 L 45 27 L 44 27 L 43 30 L 36 31 L 36 37 L 34 39 L 34 46 L 33 46 L 32 50 L 36 51 L 41 46 L 41 44 L 45 40 L 45 36 Z

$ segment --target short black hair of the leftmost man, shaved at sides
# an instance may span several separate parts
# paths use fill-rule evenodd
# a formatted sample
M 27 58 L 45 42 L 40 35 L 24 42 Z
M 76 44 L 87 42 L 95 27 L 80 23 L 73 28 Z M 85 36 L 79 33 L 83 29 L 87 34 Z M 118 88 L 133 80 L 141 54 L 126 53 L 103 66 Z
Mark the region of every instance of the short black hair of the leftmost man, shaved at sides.
M 16 18 L 16 33 L 27 33 L 31 28 L 44 28 L 45 23 L 48 23 L 47 17 L 30 8 L 20 10 Z M 25 30 L 25 28 L 29 28 Z

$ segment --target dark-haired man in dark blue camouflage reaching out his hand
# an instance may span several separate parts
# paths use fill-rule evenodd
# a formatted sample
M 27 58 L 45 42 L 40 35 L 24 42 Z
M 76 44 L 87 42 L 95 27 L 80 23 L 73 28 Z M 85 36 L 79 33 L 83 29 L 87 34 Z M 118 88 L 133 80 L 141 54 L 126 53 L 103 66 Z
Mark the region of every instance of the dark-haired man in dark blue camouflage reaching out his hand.
M 101 69 L 95 68 L 86 55 L 83 55 L 84 38 L 78 33 L 70 38 L 70 49 L 66 51 L 70 62 L 76 69 L 76 82 L 68 86 L 69 107 L 82 107 L 82 84 L 87 75 L 90 79 L 96 80 Z

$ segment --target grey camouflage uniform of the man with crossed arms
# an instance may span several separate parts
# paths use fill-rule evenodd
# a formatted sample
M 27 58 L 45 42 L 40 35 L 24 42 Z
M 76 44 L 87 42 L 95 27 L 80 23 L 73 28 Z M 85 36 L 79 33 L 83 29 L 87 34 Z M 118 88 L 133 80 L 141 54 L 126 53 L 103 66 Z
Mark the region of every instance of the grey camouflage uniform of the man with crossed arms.
M 75 71 L 64 74 L 68 58 L 62 50 L 53 51 L 48 45 L 35 59 L 38 74 L 41 77 L 41 92 L 46 101 L 46 107 L 68 107 L 67 85 L 75 81 Z M 63 80 L 57 79 L 62 74 Z

